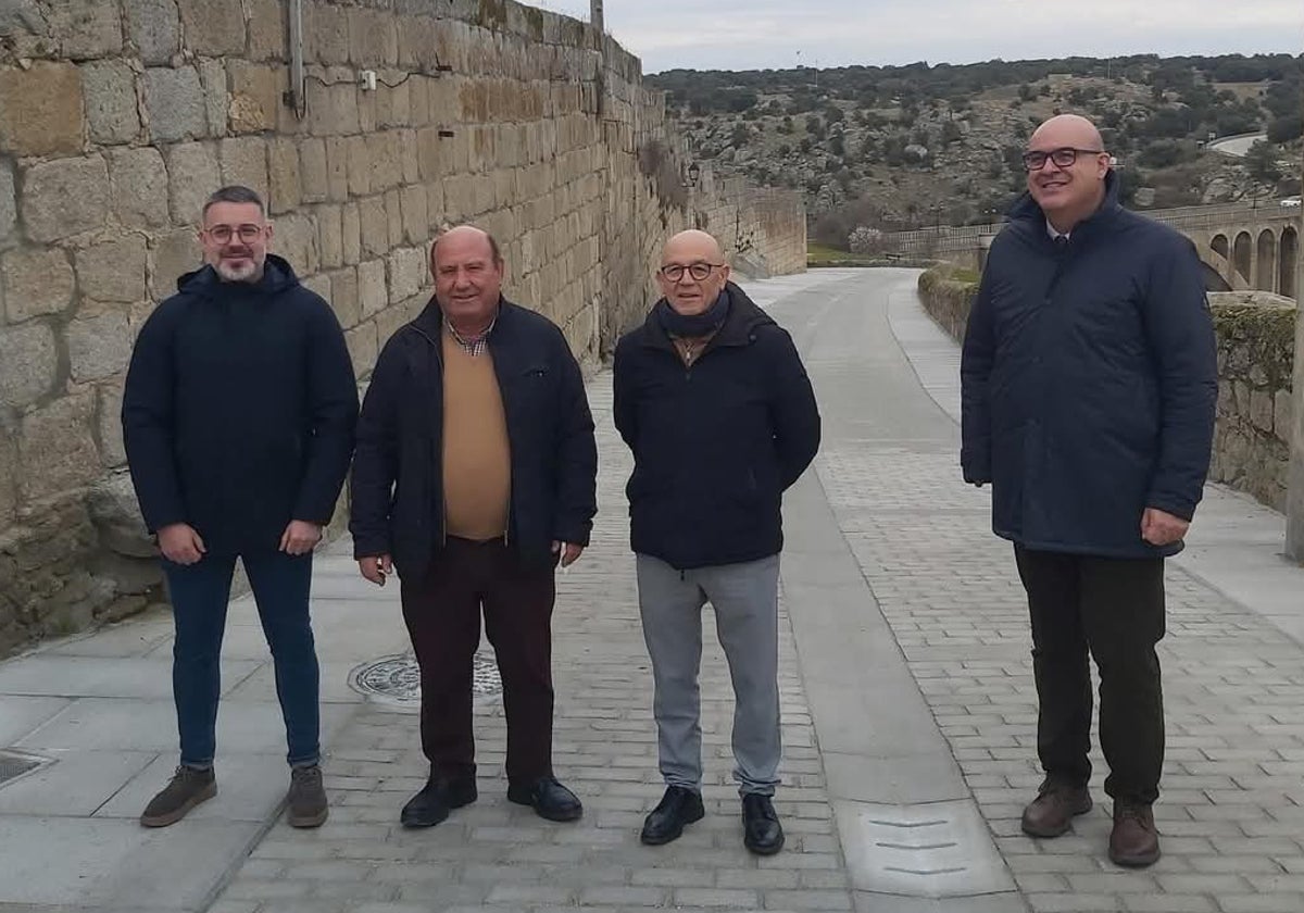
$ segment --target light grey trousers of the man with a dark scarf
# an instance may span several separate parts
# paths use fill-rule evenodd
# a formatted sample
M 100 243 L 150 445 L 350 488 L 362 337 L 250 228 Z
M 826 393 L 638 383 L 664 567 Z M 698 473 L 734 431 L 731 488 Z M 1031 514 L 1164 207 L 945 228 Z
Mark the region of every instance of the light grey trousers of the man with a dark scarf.
M 668 786 L 702 792 L 698 672 L 702 609 L 716 612 L 734 689 L 734 780 L 741 794 L 778 784 L 778 556 L 678 571 L 638 556 L 639 612 L 652 657 L 657 750 Z

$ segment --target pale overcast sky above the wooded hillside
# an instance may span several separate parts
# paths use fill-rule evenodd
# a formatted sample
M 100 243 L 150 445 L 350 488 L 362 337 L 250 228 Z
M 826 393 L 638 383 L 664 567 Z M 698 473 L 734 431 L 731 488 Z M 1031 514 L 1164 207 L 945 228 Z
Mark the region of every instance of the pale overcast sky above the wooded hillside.
M 588 0 L 526 0 L 588 18 Z M 606 0 L 643 69 L 1304 53 L 1301 0 Z

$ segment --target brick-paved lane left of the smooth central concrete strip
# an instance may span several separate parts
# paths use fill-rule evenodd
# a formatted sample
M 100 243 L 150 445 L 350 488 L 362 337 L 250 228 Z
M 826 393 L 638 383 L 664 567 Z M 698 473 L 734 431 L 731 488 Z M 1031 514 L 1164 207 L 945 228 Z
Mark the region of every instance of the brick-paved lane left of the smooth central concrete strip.
M 301 832 L 276 823 L 213 913 L 852 909 L 786 617 L 780 623 L 786 785 L 776 801 L 785 850 L 758 858 L 742 846 L 729 775 L 733 699 L 709 621 L 702 676 L 707 816 L 673 844 L 639 844 L 643 818 L 664 786 L 625 514 L 631 462 L 610 421 L 609 374 L 595 378 L 589 399 L 599 424 L 601 510 L 592 545 L 558 576 L 553 622 L 554 763 L 584 801 L 584 818 L 553 824 L 506 801 L 502 710 L 489 696 L 476 711 L 480 800 L 432 830 L 403 830 L 399 809 L 426 773 L 417 717 L 370 704 L 330 751 L 327 824 Z

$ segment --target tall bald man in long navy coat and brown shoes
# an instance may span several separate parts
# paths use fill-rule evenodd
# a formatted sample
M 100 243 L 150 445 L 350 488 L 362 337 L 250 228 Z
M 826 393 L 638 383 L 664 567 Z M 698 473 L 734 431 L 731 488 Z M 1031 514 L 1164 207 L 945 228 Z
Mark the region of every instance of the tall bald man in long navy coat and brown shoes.
M 1028 593 L 1046 779 L 1022 830 L 1091 809 L 1089 656 L 1114 800 L 1110 858 L 1159 858 L 1163 766 L 1155 644 L 1163 561 L 1200 502 L 1218 394 L 1191 241 L 1124 210 L 1099 132 L 1061 115 L 1024 154 L 1028 196 L 991 245 L 961 363 L 966 481 L 992 485 L 992 530 Z

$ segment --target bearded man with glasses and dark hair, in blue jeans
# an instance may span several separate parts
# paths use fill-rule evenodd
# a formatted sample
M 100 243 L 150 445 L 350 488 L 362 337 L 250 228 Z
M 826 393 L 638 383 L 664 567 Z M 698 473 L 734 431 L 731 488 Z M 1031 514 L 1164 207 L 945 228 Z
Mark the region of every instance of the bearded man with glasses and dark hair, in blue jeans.
M 123 394 L 126 459 L 176 623 L 181 742 L 176 775 L 141 824 L 173 824 L 216 794 L 219 659 L 239 557 L 286 723 L 287 820 L 318 827 L 327 801 L 312 554 L 348 472 L 357 386 L 330 305 L 267 252 L 273 230 L 258 194 L 224 187 L 202 219 L 207 265 L 183 275 L 145 322 Z

